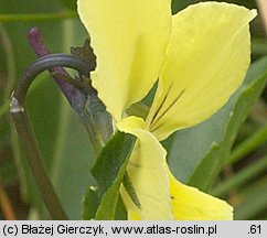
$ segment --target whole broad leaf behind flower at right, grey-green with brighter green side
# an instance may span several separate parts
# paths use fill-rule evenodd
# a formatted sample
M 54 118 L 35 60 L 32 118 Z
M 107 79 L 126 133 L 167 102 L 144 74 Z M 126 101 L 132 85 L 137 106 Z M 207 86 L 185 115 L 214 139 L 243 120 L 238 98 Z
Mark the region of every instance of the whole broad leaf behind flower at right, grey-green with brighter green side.
M 254 63 L 243 86 L 207 121 L 177 132 L 165 145 L 175 176 L 207 191 L 225 163 L 239 126 L 265 87 L 267 57 Z

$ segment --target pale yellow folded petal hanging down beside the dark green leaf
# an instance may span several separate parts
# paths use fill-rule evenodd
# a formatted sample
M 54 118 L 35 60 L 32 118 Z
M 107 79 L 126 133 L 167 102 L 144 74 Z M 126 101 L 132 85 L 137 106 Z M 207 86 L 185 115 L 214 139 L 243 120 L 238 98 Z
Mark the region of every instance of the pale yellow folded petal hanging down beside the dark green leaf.
M 125 187 L 121 196 L 129 219 L 168 220 L 173 219 L 165 150 L 145 128 L 145 121 L 129 117 L 117 123 L 120 131 L 135 134 L 138 140 L 130 156 L 127 173 L 137 194 L 138 207 Z

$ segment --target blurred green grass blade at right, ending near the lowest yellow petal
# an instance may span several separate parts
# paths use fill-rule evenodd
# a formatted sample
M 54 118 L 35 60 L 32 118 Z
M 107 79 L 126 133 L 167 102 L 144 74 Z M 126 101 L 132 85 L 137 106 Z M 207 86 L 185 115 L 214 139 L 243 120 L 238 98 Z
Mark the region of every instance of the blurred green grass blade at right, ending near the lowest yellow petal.
M 216 186 L 212 194 L 215 196 L 222 196 L 227 191 L 241 186 L 245 184 L 247 181 L 252 180 L 253 177 L 257 176 L 259 173 L 267 169 L 267 156 L 264 156 L 256 162 L 254 162 L 248 167 L 244 169 L 243 171 L 238 172 L 235 176 L 231 177 L 229 180 L 222 182 L 218 186 Z

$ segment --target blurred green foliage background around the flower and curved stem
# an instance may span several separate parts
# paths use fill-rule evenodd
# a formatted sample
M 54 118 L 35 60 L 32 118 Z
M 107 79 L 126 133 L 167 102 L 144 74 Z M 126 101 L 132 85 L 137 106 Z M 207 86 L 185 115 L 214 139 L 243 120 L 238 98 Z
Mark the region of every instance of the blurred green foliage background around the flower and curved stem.
M 196 2 L 173 0 L 173 13 Z M 253 0 L 227 2 L 257 8 Z M 87 33 L 75 9 L 76 0 L 0 0 L 0 219 L 47 218 L 11 122 L 10 94 L 36 58 L 29 29 L 40 28 L 53 53 L 83 45 Z M 175 176 L 227 199 L 236 219 L 267 219 L 267 39 L 260 17 L 252 23 L 252 42 L 255 67 L 243 88 L 212 119 L 164 142 Z M 81 219 L 95 159 L 88 136 L 47 73 L 31 88 L 26 108 L 61 202 Z

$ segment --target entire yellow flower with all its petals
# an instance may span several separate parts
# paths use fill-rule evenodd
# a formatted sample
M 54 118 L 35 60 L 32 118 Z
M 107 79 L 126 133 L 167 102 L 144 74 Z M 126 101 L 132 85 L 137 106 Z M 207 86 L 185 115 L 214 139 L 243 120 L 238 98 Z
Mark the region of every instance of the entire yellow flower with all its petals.
M 138 138 L 127 173 L 138 203 L 121 185 L 129 219 L 232 219 L 225 202 L 177 181 L 160 141 L 215 113 L 249 65 L 256 11 L 204 2 L 171 14 L 170 0 L 78 0 L 97 56 L 94 87 L 118 130 Z M 143 120 L 126 109 L 158 82 Z

